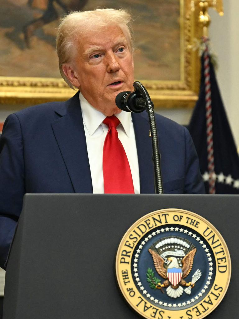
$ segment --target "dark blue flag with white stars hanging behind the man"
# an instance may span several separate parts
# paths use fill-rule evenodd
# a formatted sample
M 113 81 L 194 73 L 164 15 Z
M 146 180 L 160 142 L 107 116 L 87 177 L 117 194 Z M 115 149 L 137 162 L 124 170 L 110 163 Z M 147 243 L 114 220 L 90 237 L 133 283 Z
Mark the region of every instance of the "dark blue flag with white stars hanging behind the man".
M 210 67 L 208 75 L 211 85 L 214 173 L 212 174 L 211 172 L 210 174 L 210 169 L 208 169 L 205 56 L 202 56 L 201 62 L 202 72 L 199 100 L 194 108 L 188 129 L 199 156 L 200 170 L 204 178 L 206 193 L 209 193 L 209 177 L 211 176 L 215 182 L 215 194 L 239 194 L 239 157 L 210 57 L 208 61 L 208 66 Z

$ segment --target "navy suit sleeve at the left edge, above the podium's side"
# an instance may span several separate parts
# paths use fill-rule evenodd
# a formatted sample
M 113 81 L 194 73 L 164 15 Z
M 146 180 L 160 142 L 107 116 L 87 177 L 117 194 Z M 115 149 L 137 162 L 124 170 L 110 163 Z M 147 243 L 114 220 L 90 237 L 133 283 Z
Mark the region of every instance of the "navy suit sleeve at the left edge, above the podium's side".
M 24 194 L 22 132 L 18 117 L 12 114 L 0 137 L 0 267 L 4 269 Z

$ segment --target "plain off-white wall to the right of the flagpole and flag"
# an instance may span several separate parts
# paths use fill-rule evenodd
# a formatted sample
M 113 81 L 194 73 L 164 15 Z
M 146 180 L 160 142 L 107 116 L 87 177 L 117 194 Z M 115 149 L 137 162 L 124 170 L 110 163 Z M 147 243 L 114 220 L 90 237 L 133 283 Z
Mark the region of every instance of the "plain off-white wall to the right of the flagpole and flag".
M 224 11 L 223 17 L 211 12 L 210 36 L 218 54 L 219 87 L 236 145 L 239 145 L 239 1 L 224 0 Z

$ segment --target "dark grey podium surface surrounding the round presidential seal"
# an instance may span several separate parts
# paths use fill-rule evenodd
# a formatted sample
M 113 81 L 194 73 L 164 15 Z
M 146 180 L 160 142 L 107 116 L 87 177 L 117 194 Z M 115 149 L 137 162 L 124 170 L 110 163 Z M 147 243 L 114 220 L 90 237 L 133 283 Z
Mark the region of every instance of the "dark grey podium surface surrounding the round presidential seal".
M 115 255 L 137 219 L 165 208 L 197 213 L 223 236 L 231 282 L 206 318 L 237 318 L 238 206 L 236 195 L 26 194 L 6 269 L 3 319 L 141 318 L 120 293 Z

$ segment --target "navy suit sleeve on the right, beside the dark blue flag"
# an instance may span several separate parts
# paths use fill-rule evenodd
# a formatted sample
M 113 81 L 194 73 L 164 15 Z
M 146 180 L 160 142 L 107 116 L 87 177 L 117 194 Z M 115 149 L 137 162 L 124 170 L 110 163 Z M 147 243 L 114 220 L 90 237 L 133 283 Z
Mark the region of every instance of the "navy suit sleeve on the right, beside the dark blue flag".
M 203 179 L 199 169 L 199 159 L 189 131 L 185 129 L 186 167 L 184 192 L 186 194 L 205 194 Z

